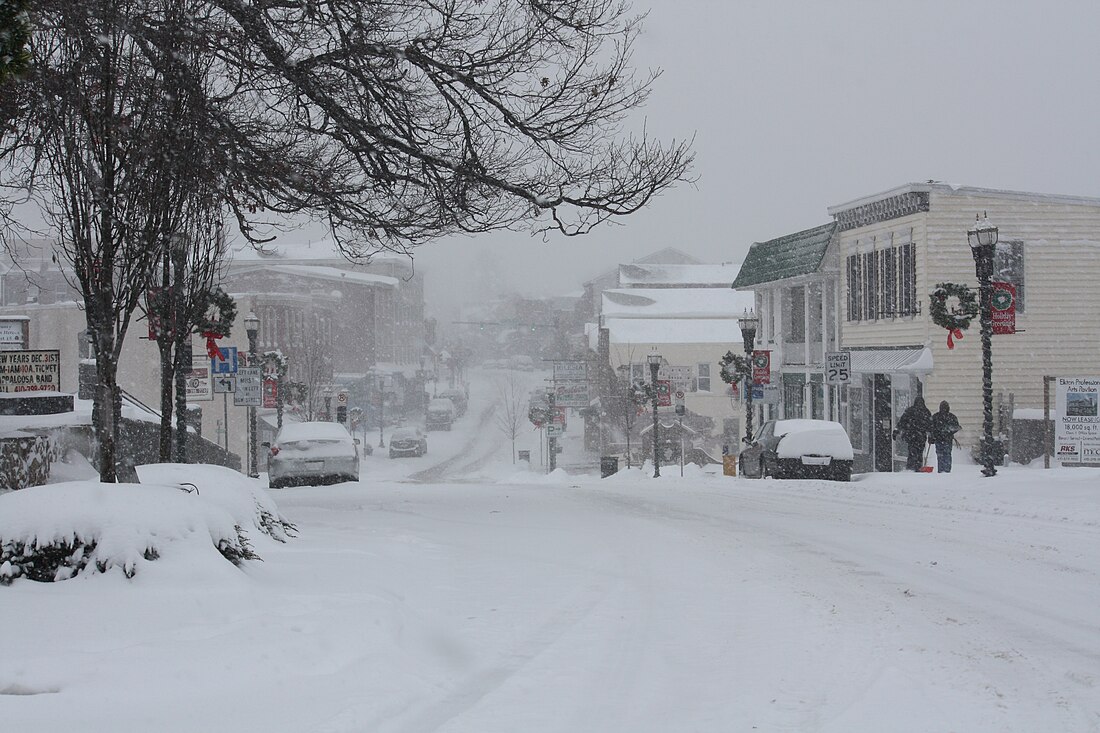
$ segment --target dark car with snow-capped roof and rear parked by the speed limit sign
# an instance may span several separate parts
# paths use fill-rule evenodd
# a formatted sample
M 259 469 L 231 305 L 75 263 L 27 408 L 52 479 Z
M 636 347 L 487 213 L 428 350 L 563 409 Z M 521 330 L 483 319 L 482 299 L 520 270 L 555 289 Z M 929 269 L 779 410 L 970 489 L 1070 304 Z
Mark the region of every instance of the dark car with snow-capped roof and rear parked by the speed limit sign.
M 851 480 L 855 453 L 844 426 L 833 420 L 768 420 L 741 450 L 739 473 L 762 479 Z

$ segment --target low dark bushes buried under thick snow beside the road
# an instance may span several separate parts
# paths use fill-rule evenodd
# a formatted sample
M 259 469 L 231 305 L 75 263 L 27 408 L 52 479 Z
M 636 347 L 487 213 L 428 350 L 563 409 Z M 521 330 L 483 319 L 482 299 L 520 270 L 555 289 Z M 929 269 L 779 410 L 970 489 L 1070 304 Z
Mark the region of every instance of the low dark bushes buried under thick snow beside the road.
M 261 559 L 254 541 L 295 532 L 254 481 L 230 469 L 139 471 L 145 483 L 72 481 L 0 495 L 0 584 L 111 570 L 133 578 L 154 560 L 220 572 L 226 560 Z

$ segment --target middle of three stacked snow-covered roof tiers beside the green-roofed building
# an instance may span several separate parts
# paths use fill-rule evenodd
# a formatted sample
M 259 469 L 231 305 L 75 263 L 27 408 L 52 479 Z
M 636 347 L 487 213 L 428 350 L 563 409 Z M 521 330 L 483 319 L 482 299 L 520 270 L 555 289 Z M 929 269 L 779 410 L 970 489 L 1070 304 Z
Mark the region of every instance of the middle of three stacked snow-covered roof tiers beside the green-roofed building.
M 732 318 L 752 307 L 751 293 L 729 288 L 622 288 L 604 291 L 604 318 Z

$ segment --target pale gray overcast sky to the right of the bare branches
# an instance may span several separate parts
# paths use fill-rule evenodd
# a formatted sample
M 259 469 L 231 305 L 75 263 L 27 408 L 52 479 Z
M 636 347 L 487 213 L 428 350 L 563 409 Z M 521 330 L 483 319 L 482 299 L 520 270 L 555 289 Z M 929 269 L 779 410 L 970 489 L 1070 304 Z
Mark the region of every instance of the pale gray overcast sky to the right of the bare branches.
M 1096 0 L 634 7 L 650 9 L 635 64 L 663 69 L 649 129 L 696 136 L 697 185 L 584 238 L 428 244 L 417 266 L 436 315 L 490 277 L 566 294 L 662 247 L 739 262 L 754 241 L 910 182 L 1100 197 Z

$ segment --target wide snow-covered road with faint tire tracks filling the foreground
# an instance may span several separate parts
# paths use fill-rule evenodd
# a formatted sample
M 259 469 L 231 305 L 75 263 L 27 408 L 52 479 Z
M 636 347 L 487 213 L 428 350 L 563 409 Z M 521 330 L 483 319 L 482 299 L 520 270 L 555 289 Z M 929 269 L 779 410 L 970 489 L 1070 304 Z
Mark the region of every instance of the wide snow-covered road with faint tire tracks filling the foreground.
M 133 581 L 0 589 L 0 718 L 1100 730 L 1097 472 L 845 485 L 494 470 L 275 492 L 301 536 L 244 573 L 194 577 L 164 558 Z

